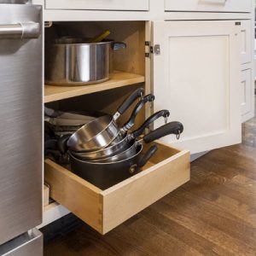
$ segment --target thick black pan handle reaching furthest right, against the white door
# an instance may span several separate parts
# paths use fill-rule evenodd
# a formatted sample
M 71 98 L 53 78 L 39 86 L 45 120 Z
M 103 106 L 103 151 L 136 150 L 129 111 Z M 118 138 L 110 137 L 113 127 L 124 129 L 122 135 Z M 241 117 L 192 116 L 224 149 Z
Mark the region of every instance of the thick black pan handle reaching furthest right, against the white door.
M 183 124 L 180 122 L 170 122 L 166 125 L 162 125 L 154 131 L 149 132 L 143 137 L 145 143 L 154 142 L 154 140 L 159 139 L 160 137 L 165 137 L 169 134 L 176 134 L 179 136 L 183 132 Z

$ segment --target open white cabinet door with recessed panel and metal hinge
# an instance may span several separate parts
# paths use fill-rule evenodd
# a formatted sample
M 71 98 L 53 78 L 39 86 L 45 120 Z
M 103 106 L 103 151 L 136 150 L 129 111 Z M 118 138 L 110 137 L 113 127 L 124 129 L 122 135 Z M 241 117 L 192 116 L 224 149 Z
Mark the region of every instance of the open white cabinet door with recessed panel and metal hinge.
M 154 111 L 167 108 L 184 125 L 179 141 L 164 141 L 192 154 L 240 143 L 240 23 L 154 21 L 152 28 Z

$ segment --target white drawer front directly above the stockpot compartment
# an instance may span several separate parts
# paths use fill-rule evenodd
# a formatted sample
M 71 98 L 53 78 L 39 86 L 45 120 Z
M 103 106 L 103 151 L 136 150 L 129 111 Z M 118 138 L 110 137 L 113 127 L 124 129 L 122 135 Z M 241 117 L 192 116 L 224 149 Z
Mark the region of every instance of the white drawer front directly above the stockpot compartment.
M 148 10 L 149 0 L 46 0 L 46 9 Z

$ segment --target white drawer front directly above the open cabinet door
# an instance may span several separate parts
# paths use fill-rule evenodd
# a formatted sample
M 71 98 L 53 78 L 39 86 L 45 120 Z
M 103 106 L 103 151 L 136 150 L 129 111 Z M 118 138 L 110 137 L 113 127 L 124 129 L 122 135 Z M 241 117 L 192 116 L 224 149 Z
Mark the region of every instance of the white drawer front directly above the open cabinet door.
M 166 11 L 251 12 L 251 0 L 165 0 Z

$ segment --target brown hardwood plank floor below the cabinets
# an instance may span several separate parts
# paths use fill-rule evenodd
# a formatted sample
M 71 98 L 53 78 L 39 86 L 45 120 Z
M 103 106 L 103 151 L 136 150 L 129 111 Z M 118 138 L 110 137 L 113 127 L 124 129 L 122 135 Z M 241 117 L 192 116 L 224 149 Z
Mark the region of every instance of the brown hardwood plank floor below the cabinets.
M 256 255 L 256 119 L 242 144 L 195 160 L 182 188 L 106 236 L 79 225 L 44 255 Z

